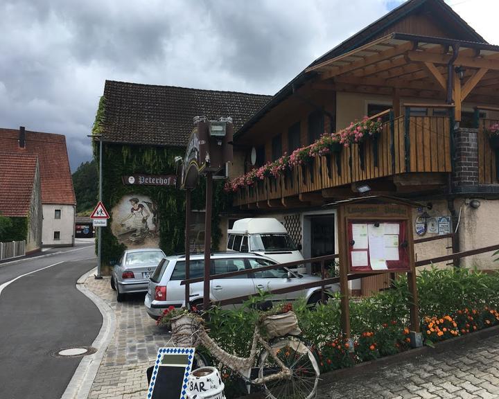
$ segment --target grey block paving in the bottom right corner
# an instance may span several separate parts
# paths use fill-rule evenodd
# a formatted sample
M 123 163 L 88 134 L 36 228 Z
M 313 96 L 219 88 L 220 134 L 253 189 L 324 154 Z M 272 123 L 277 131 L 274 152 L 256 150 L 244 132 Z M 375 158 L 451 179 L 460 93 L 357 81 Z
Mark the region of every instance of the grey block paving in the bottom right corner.
M 499 337 L 345 378 L 318 398 L 499 398 Z

